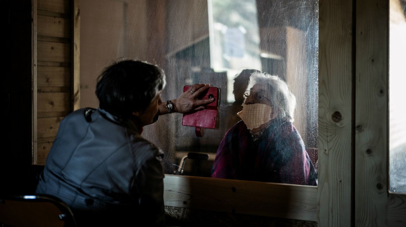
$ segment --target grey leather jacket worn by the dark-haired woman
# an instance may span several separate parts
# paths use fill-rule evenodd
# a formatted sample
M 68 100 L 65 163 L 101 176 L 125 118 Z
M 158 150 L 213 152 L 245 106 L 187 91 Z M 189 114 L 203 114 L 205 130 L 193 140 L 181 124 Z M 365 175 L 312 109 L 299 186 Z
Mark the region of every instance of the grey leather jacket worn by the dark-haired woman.
M 163 226 L 162 157 L 132 121 L 79 109 L 61 121 L 36 193 L 63 200 L 78 224 Z

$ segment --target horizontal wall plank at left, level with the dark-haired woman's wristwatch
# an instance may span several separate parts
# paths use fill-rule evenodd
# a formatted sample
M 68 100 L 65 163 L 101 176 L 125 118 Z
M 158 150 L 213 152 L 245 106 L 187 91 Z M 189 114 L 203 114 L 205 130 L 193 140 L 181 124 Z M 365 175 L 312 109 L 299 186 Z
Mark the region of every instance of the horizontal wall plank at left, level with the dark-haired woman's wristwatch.
M 70 93 L 38 93 L 38 112 L 70 111 Z

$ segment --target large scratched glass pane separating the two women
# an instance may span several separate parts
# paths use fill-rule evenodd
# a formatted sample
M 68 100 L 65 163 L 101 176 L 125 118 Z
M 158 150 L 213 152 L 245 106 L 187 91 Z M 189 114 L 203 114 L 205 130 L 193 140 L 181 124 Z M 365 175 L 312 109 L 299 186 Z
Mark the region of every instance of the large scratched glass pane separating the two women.
M 289 112 L 284 116 L 292 119 L 283 118 L 282 123 L 288 122 L 283 124 L 285 128 L 275 126 L 276 130 L 260 140 L 253 130 L 247 130 L 250 126 L 245 126 L 246 121 L 238 124 L 245 132 L 245 147 L 235 145 L 227 152 L 234 157 L 229 162 L 244 166 L 239 170 L 245 176 L 241 179 L 278 182 L 255 176 L 263 170 L 261 165 L 267 165 L 270 174 L 276 172 L 272 166 L 277 166 L 275 160 L 279 156 L 285 160 L 283 171 L 290 178 L 295 176 L 291 173 L 298 171 L 309 175 L 313 167 L 316 172 L 317 0 L 82 0 L 81 11 L 87 12 L 81 16 L 82 107 L 97 107 L 95 78 L 103 67 L 121 57 L 146 60 L 164 69 L 167 85 L 162 92 L 163 101 L 177 98 L 186 85 L 205 83 L 219 88 L 216 126 L 202 128 L 202 137 L 197 137 L 194 127 L 182 125 L 183 116 L 178 113 L 161 116 L 158 122 L 144 128 L 143 136 L 165 153 L 166 174 L 212 177 L 216 153 L 222 150 L 219 147 L 225 135 L 230 135 L 232 141 L 244 141 L 242 137 L 233 137 L 230 130 L 240 122 L 237 113 L 243 110 L 244 102 L 244 108 L 253 107 L 248 105 L 253 103 L 266 104 L 257 105 L 263 107 L 261 116 L 267 116 L 266 124 L 257 127 L 261 128 L 259 132 L 270 132 L 274 125 L 270 120 L 279 119 L 273 116 L 282 116 L 282 111 Z M 248 86 L 253 72 L 275 75 L 281 84 L 287 84 L 285 90 L 296 97 L 296 108 L 290 104 L 290 109 L 286 107 L 289 111 L 282 108 L 285 103 L 276 99 L 279 93 L 274 92 L 279 85 L 271 86 L 270 76 L 263 82 L 252 80 Z M 260 84 L 270 86 L 261 88 L 265 91 L 260 93 Z M 248 103 L 250 99 L 254 101 Z M 289 100 L 292 104 L 293 99 Z M 236 129 L 234 134 L 238 132 Z M 289 140 L 271 140 L 286 135 Z M 279 156 L 270 152 L 275 144 Z M 298 153 L 294 155 L 293 151 Z M 280 168 L 278 171 L 282 172 Z M 317 174 L 313 177 L 317 180 Z M 282 183 L 286 182 L 309 184 L 294 179 Z

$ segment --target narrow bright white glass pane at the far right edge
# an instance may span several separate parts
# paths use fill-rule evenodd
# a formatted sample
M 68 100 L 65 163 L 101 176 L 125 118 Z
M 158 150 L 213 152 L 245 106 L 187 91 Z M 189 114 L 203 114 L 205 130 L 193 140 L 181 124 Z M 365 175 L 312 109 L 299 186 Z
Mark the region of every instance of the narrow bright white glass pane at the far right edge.
M 391 191 L 406 193 L 406 2 L 389 6 L 389 182 Z

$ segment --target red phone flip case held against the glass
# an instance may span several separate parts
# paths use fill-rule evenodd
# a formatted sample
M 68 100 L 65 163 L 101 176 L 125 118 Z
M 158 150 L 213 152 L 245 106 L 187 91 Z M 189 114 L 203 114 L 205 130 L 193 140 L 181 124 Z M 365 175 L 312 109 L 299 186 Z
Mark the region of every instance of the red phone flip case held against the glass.
M 183 92 L 187 91 L 190 86 L 184 86 Z M 182 119 L 182 125 L 196 127 L 195 132 L 198 137 L 201 137 L 201 128 L 215 128 L 217 120 L 217 107 L 218 95 L 220 89 L 216 87 L 209 87 L 209 89 L 202 92 L 198 99 L 214 98 L 215 101 L 207 104 L 206 109 L 199 110 L 193 113 L 185 113 Z

